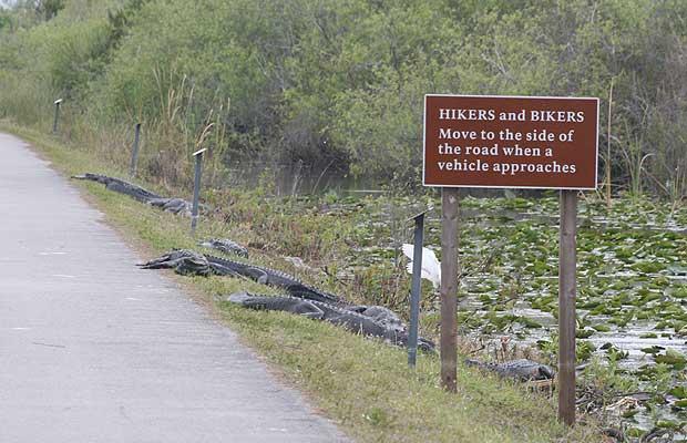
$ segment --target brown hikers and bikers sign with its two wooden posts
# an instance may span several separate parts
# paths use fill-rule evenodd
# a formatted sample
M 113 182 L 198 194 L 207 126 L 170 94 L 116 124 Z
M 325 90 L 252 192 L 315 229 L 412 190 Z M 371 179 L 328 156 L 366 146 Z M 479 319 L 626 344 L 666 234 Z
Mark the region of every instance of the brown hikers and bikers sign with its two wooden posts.
M 442 189 L 441 381 L 455 391 L 457 187 L 561 189 L 558 419 L 575 422 L 577 190 L 595 189 L 598 99 L 424 97 L 423 185 Z

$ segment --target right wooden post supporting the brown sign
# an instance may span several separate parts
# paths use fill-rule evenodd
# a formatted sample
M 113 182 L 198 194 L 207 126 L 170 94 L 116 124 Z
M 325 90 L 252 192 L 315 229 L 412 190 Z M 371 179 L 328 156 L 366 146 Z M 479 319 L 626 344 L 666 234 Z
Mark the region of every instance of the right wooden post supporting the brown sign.
M 558 245 L 558 420 L 575 423 L 575 292 L 577 192 L 561 190 Z

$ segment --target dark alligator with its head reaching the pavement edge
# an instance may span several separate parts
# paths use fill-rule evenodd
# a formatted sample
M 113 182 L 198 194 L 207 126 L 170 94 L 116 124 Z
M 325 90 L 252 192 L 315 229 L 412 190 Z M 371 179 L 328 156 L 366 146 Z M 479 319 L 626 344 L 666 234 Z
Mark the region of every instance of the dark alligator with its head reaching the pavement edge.
M 180 262 L 186 260 L 186 257 L 188 257 L 188 260 L 191 261 L 197 261 L 198 255 L 198 253 L 192 250 L 175 249 L 157 259 L 141 264 L 139 266 L 144 269 L 178 269 Z M 303 281 L 298 280 L 296 277 L 280 270 L 265 268 L 257 265 L 244 264 L 240 261 L 230 260 L 228 258 L 219 258 L 208 254 L 201 254 L 201 256 L 203 256 L 207 260 L 211 268 L 211 274 L 218 276 L 248 277 L 252 280 L 255 280 L 263 285 L 269 285 L 277 288 L 286 289 L 294 297 L 326 301 L 329 303 L 341 303 L 341 299 L 338 296 L 325 292 L 320 289 L 306 285 Z M 189 270 L 193 269 L 193 266 L 184 265 L 182 266 L 182 269 Z M 205 272 L 204 268 L 202 270 L 203 272 Z M 198 275 L 206 276 L 207 274 Z

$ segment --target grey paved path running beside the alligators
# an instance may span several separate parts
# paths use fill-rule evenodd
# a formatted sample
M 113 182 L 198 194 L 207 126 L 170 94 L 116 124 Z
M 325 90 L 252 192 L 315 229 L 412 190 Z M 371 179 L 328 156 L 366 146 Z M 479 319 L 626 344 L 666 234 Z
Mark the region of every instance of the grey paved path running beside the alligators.
M 0 134 L 0 442 L 338 442 L 228 329 Z

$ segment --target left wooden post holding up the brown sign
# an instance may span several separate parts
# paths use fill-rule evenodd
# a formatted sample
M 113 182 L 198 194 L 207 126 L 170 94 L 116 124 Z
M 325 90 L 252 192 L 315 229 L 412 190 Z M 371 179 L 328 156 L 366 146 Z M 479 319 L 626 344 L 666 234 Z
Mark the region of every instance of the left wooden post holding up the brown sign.
M 458 363 L 458 189 L 441 189 L 441 384 L 455 392 Z

